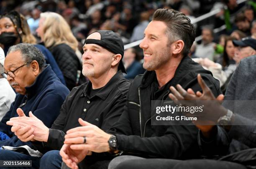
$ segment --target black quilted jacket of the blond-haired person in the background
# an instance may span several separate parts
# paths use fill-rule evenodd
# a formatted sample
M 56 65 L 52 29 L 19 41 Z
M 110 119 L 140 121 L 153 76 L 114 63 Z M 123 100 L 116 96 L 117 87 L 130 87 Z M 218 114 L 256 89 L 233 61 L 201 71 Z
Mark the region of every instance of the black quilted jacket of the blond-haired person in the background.
M 77 71 L 82 70 L 75 51 L 65 43 L 53 46 L 49 50 L 63 73 L 67 88 L 71 91 L 77 85 Z

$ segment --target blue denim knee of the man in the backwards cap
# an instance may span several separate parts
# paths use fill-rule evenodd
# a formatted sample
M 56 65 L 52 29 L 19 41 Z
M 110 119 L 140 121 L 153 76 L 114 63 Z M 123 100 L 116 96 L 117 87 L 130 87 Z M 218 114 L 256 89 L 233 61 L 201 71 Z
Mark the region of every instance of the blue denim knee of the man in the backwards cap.
M 40 160 L 40 169 L 60 169 L 62 158 L 58 150 L 48 151 Z

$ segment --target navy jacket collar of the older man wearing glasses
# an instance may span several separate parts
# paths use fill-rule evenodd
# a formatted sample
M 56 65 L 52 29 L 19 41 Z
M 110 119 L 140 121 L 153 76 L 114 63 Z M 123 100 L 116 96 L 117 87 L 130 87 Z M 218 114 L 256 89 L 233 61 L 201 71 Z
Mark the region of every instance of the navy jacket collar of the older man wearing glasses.
M 26 96 L 28 99 L 38 94 L 45 86 L 45 84 L 51 80 L 55 75 L 50 65 L 46 65 L 44 70 L 36 77 L 36 80 L 31 86 L 26 88 Z

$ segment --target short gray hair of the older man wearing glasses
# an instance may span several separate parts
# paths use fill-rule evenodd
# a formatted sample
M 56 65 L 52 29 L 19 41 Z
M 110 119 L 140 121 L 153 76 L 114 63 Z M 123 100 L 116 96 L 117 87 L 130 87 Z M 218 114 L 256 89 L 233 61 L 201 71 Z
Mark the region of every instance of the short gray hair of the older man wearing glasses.
M 44 54 L 36 48 L 34 45 L 29 43 L 19 43 L 18 45 L 13 45 L 9 48 L 7 55 L 9 53 L 13 53 L 16 51 L 20 51 L 24 61 L 26 63 L 37 61 L 39 65 L 39 69 L 43 68 L 45 64 Z

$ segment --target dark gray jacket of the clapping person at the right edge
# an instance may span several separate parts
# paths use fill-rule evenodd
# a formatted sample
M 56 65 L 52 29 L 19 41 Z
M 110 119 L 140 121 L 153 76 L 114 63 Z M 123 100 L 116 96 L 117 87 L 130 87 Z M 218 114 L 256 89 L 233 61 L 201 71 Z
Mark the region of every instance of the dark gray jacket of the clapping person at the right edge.
M 228 85 L 223 106 L 233 111 L 234 121 L 229 132 L 218 126 L 214 140 L 200 145 L 207 155 L 226 155 L 256 148 L 256 55 L 242 59 Z M 234 125 L 239 124 L 239 125 Z

